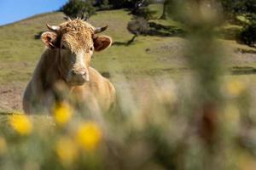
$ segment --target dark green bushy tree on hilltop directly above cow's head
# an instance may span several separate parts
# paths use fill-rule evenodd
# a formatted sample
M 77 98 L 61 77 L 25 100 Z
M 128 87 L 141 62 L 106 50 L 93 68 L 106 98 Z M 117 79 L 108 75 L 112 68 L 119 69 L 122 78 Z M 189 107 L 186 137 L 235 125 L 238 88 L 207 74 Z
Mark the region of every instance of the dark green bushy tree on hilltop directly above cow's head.
M 93 7 L 94 0 L 69 0 L 62 8 L 61 11 L 71 18 L 88 19 L 92 14 L 96 13 Z

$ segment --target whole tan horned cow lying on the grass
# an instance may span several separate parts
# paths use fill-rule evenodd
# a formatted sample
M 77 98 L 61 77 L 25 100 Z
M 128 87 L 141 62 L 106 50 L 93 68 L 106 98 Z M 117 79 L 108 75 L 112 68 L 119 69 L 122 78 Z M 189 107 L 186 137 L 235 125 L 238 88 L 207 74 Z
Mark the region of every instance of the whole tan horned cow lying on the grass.
M 82 19 L 46 26 L 49 31 L 41 35 L 46 49 L 26 87 L 23 110 L 27 114 L 50 113 L 60 100 L 73 98 L 90 108 L 109 111 L 115 102 L 115 88 L 90 66 L 93 52 L 112 44 L 111 37 L 97 35 L 108 26 L 94 27 Z M 58 97 L 60 89 L 68 99 Z

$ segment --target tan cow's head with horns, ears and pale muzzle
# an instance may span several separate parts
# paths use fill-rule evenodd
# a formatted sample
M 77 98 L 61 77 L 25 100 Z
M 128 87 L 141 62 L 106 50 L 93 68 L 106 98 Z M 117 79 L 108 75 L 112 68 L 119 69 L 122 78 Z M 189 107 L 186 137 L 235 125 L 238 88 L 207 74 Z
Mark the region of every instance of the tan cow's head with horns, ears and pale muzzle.
M 42 34 L 44 44 L 58 50 L 59 70 L 70 85 L 82 85 L 90 81 L 89 65 L 94 51 L 108 48 L 112 40 L 107 36 L 97 36 L 108 26 L 95 28 L 84 20 L 67 20 L 60 26 L 49 26 Z

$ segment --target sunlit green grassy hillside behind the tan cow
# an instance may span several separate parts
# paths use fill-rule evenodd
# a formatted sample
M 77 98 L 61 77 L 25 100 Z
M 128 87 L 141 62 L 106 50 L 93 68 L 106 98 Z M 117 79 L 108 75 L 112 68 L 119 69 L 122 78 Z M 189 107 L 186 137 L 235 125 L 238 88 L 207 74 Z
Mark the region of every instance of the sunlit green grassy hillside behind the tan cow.
M 173 20 L 157 20 L 161 14 L 161 5 L 154 4 L 155 19 L 150 20 L 163 26 L 180 26 Z M 130 46 L 122 45 L 131 39 L 126 29 L 131 15 L 124 9 L 101 11 L 92 16 L 89 22 L 94 26 L 108 25 L 104 34 L 117 42 L 112 48 L 95 54 L 92 66 L 101 72 L 109 72 L 117 87 L 122 86 L 119 76 L 133 82 L 142 77 L 166 75 L 180 80 L 189 70 L 183 59 L 183 37 L 138 37 Z M 58 25 L 63 22 L 61 12 L 39 14 L 8 26 L 0 27 L 0 110 L 20 111 L 20 100 L 26 83 L 32 77 L 32 71 L 44 51 L 44 44 L 35 39 L 41 31 L 46 31 L 46 23 Z M 234 26 L 225 26 L 230 29 Z M 236 27 L 236 26 L 235 26 Z M 253 70 L 256 66 L 256 49 L 237 44 L 234 40 L 219 40 L 227 51 L 229 67 L 237 71 Z M 150 79 L 149 78 L 149 79 Z

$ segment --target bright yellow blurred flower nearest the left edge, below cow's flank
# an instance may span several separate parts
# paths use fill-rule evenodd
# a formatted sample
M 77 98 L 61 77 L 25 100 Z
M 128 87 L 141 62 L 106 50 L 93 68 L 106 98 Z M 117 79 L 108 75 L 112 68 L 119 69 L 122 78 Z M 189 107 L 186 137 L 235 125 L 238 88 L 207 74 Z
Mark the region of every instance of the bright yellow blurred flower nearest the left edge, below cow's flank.
M 32 122 L 26 115 L 15 114 L 9 118 L 9 124 L 20 135 L 28 135 L 32 132 Z

